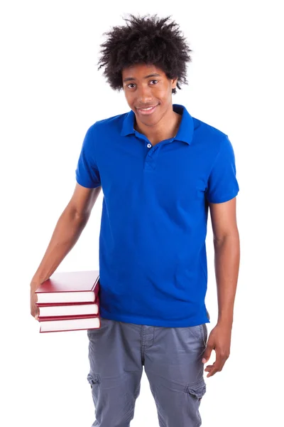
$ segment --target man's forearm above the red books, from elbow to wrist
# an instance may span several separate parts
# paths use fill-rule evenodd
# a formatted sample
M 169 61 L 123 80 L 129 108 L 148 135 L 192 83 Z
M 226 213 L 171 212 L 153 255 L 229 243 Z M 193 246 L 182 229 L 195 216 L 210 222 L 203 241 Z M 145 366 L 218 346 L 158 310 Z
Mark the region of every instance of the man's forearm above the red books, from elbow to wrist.
M 87 221 L 88 216 L 79 218 L 76 212 L 68 209 L 68 207 L 62 212 L 43 260 L 33 276 L 31 286 L 43 283 L 50 278 L 50 275 L 55 272 L 58 265 L 77 242 Z

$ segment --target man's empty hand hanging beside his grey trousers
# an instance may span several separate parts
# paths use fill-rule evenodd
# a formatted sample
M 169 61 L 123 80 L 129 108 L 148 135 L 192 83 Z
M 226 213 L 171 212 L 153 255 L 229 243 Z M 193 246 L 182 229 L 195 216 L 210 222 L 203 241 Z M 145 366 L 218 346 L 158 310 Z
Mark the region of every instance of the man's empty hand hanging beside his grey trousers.
M 217 324 L 209 334 L 207 347 L 204 351 L 202 362 L 205 364 L 210 359 L 212 350 L 215 350 L 216 360 L 212 365 L 207 365 L 204 371 L 209 372 L 207 378 L 222 371 L 226 359 L 230 355 L 231 347 L 231 324 Z

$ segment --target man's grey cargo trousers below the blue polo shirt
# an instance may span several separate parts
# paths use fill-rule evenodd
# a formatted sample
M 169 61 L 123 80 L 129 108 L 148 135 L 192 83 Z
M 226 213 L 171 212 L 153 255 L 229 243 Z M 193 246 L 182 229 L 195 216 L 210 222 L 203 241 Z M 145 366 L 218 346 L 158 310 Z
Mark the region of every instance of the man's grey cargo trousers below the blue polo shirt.
M 143 367 L 160 427 L 200 427 L 206 391 L 202 355 L 207 325 L 153 327 L 101 317 L 87 330 L 89 374 L 97 427 L 129 427 Z

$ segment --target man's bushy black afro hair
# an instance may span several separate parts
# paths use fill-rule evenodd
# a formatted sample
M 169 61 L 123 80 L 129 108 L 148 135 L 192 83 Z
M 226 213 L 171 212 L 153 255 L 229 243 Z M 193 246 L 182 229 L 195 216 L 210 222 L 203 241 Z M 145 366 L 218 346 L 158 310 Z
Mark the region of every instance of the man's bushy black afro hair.
M 99 68 L 114 90 L 121 90 L 122 70 L 131 65 L 146 63 L 164 71 L 168 78 L 178 78 L 177 87 L 187 84 L 187 63 L 192 52 L 171 16 L 124 18 L 125 26 L 114 26 L 104 33 L 107 40 L 100 45 Z M 173 89 L 172 93 L 176 93 Z

